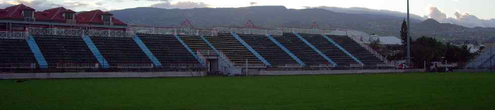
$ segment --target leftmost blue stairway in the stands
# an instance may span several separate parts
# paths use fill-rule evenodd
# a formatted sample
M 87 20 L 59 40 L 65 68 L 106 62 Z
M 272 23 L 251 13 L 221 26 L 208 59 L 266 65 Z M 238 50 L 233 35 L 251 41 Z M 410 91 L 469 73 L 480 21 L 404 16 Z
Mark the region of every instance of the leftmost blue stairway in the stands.
M 48 63 L 46 63 L 41 50 L 39 50 L 38 44 L 34 41 L 34 37 L 29 35 L 29 39 L 26 41 L 31 49 L 31 52 L 34 54 L 34 58 L 36 58 L 36 61 L 38 62 L 39 68 L 48 68 Z

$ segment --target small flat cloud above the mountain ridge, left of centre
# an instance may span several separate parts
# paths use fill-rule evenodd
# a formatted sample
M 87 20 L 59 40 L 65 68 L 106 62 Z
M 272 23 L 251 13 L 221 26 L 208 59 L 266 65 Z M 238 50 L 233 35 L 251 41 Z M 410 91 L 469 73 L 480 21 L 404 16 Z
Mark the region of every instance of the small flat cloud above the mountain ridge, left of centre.
M 154 0 L 147 0 L 147 1 L 154 1 Z M 162 9 L 193 9 L 193 8 L 206 8 L 210 6 L 209 4 L 205 4 L 203 2 L 195 3 L 195 2 L 187 1 L 187 2 L 177 2 L 175 4 L 172 4 L 167 0 L 157 0 L 157 1 L 166 1 L 166 2 L 154 4 L 151 5 L 151 7 L 162 8 Z

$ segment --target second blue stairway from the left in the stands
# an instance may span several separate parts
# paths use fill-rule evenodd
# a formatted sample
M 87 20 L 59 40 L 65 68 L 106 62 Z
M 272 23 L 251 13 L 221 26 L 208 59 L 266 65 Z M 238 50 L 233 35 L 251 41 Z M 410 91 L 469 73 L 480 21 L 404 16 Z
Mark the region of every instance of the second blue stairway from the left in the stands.
M 89 36 L 82 36 L 82 40 L 84 40 L 84 43 L 86 43 L 91 53 L 93 53 L 94 57 L 96 57 L 98 63 L 102 65 L 102 68 L 109 68 L 110 65 L 108 64 L 105 57 L 103 57 L 102 53 L 100 53 L 100 50 L 96 48 L 96 45 L 94 45 L 93 41 L 91 41 L 91 38 L 89 38 Z

